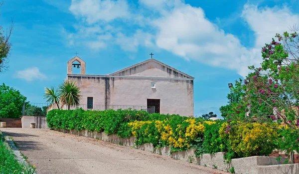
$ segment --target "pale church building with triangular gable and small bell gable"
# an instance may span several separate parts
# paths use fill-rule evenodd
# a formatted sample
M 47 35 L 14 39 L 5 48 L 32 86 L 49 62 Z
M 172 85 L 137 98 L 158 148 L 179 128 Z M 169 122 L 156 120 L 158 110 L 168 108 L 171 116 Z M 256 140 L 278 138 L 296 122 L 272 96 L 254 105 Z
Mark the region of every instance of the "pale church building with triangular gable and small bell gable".
M 74 64 L 75 61 L 79 64 Z M 80 74 L 72 73 L 73 65 L 81 67 Z M 130 105 L 154 107 L 154 112 L 161 114 L 194 116 L 194 78 L 155 59 L 108 75 L 87 75 L 86 63 L 75 56 L 68 61 L 67 79 L 79 86 L 80 104 L 87 109 Z

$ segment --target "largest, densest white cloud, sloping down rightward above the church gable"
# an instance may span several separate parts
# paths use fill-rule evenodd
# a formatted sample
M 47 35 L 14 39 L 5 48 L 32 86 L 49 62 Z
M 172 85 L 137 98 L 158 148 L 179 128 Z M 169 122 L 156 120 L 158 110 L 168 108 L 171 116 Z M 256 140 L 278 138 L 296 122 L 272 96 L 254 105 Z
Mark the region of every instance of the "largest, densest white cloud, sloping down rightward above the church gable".
M 185 59 L 194 59 L 213 66 L 237 70 L 252 61 L 250 51 L 240 40 L 210 22 L 200 7 L 182 5 L 154 20 L 158 28 L 156 45 Z

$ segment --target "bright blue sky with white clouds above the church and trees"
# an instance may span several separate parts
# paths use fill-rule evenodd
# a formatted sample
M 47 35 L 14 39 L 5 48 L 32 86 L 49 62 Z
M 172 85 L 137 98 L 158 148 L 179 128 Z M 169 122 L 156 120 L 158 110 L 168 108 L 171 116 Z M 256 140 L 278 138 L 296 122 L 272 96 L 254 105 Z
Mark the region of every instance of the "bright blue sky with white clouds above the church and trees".
M 0 83 L 30 102 L 66 78 L 77 51 L 87 74 L 108 74 L 154 58 L 193 77 L 194 113 L 217 115 L 228 83 L 259 65 L 275 33 L 299 25 L 298 0 L 4 0 L 14 20 L 9 70 Z

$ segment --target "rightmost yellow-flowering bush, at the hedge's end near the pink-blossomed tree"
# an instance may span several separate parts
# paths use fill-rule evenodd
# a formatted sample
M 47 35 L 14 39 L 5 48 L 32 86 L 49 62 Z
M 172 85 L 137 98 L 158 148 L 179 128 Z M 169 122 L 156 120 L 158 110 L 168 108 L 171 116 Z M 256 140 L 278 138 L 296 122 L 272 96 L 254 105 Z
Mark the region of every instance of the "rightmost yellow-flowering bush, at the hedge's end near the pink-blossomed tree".
M 279 134 L 275 125 L 235 123 L 221 125 L 220 138 L 226 144 L 227 160 L 238 157 L 270 155 L 278 148 Z

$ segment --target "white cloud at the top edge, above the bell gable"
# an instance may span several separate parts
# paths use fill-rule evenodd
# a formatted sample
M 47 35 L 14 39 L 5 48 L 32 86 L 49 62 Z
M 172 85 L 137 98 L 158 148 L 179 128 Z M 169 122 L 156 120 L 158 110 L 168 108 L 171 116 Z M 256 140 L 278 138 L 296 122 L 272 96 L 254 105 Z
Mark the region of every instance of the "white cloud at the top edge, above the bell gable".
M 130 17 L 126 0 L 72 0 L 69 10 L 89 24 Z

